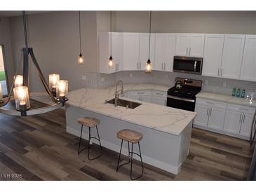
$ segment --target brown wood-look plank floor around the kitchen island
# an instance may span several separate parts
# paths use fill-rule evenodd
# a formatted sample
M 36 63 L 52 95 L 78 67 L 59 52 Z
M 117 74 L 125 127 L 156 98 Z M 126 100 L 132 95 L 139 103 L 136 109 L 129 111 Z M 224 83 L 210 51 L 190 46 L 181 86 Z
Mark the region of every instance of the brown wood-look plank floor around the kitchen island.
M 104 149 L 100 158 L 90 161 L 87 151 L 77 154 L 78 143 L 79 138 L 65 130 L 62 109 L 28 117 L 0 114 L 0 180 L 130 180 L 129 165 L 116 172 L 118 153 Z M 97 146 L 92 151 L 97 155 Z M 247 141 L 193 128 L 180 174 L 145 165 L 140 180 L 245 180 L 251 157 Z M 140 168 L 137 163 L 134 173 L 140 174 Z

